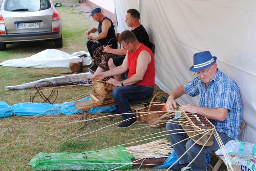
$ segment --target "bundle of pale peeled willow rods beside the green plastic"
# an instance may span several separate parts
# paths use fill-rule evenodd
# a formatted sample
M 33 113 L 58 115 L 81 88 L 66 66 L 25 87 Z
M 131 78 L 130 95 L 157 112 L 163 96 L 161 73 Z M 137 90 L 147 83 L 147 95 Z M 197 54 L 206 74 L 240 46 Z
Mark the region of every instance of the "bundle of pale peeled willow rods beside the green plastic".
M 149 142 L 138 146 L 126 147 L 126 151 L 135 158 L 163 158 L 168 157 L 172 152 L 171 142 L 167 138 Z

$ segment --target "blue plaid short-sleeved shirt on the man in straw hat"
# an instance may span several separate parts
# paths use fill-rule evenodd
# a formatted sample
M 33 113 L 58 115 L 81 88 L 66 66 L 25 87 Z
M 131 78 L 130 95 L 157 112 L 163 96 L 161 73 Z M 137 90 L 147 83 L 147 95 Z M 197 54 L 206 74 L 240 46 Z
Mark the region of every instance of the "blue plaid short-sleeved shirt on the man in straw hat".
M 189 96 L 200 95 L 201 107 L 228 109 L 224 121 L 210 121 L 218 132 L 226 133 L 233 139 L 238 138 L 242 122 L 242 104 L 239 88 L 234 80 L 218 69 L 208 87 L 197 77 L 185 84 L 184 89 Z

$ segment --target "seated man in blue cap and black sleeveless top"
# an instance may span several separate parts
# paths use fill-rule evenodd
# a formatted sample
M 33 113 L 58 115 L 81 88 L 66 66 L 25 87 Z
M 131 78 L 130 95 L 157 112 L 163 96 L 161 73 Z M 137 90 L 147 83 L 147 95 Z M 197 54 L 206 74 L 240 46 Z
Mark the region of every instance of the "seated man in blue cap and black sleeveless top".
M 93 52 L 95 49 L 102 45 L 109 45 L 110 47 L 117 49 L 117 40 L 113 22 L 102 14 L 102 10 L 100 8 L 93 9 L 89 16 L 98 22 L 98 25 L 85 32 L 89 39 L 89 41 L 86 42 L 86 45 L 91 57 L 93 58 Z M 91 35 L 91 33 L 95 33 L 97 31 L 98 35 Z M 97 40 L 99 43 L 97 44 L 90 40 Z M 93 66 L 90 69 L 95 71 L 97 67 L 96 63 L 93 62 Z

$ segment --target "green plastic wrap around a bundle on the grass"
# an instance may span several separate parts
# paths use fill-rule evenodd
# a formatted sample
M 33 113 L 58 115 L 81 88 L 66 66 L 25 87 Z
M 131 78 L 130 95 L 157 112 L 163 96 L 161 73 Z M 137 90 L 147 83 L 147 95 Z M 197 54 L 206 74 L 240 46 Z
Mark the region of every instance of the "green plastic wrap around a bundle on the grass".
M 83 153 L 39 153 L 28 164 L 35 170 L 123 170 L 132 168 L 133 158 L 125 147 L 117 146 Z

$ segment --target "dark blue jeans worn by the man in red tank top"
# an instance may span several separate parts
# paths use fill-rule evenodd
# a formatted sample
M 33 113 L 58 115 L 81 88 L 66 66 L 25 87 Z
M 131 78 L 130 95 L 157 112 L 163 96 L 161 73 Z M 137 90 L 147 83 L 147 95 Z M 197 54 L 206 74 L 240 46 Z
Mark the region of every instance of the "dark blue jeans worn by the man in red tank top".
M 139 86 L 139 85 L 130 85 L 122 86 L 113 89 L 112 95 L 117 102 L 117 106 L 121 113 L 131 113 L 132 109 L 130 107 L 128 100 L 139 100 L 143 98 L 148 98 L 153 95 L 154 88 Z M 123 114 L 122 119 L 126 120 L 134 117 L 133 114 Z

